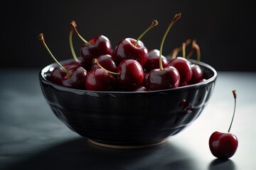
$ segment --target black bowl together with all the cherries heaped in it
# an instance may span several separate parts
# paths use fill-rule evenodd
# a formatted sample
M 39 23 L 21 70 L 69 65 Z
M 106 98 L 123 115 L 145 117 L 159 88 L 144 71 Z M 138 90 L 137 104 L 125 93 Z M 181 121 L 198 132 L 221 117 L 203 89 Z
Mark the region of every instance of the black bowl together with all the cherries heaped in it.
M 53 113 L 78 135 L 95 145 L 137 148 L 159 145 L 193 123 L 208 104 L 217 72 L 200 61 L 195 40 L 183 42 L 171 57 L 162 55 L 167 33 L 181 17 L 174 16 L 160 49 L 148 49 L 141 38 L 124 38 L 114 47 L 105 35 L 86 41 L 70 23 L 73 58 L 58 62 L 41 33 L 38 38 L 53 57 L 39 81 Z M 73 32 L 83 41 L 80 57 Z M 186 55 L 186 46 L 191 51 Z M 177 57 L 178 52 L 183 56 Z M 197 60 L 191 56 L 197 54 Z

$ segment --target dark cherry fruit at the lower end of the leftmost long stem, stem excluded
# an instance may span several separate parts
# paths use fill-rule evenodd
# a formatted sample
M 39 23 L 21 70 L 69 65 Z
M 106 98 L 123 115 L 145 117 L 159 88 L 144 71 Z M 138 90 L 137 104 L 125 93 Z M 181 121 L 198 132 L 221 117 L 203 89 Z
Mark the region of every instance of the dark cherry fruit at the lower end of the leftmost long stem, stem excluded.
M 66 74 L 61 81 L 63 86 L 74 89 L 85 89 L 87 71 L 83 67 L 72 67 L 68 72 L 70 74 Z

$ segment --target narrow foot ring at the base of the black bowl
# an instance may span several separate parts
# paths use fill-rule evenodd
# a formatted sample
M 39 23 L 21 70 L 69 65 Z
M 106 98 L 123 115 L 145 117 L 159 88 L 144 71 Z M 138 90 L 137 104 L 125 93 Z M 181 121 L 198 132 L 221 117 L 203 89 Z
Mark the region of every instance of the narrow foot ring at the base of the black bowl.
M 157 145 L 164 144 L 168 139 L 161 140 L 159 142 L 152 143 L 150 145 L 110 145 L 110 144 L 105 144 L 101 142 L 96 142 L 95 140 L 90 140 L 88 139 L 88 142 L 92 143 L 93 145 L 97 145 L 100 147 L 107 147 L 107 148 L 112 148 L 112 149 L 139 149 L 139 148 L 144 148 L 144 147 L 154 147 Z

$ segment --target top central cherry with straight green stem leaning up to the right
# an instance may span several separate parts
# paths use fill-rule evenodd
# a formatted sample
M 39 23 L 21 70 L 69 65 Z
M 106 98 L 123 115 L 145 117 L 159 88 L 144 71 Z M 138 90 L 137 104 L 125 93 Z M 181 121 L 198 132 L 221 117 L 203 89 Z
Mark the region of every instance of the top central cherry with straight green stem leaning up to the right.
M 117 43 L 116 47 L 114 47 L 114 62 L 116 62 L 118 65 L 123 60 L 132 59 L 137 60 L 137 62 L 139 62 L 142 67 L 144 67 L 144 64 L 146 63 L 149 54 L 141 39 L 146 32 L 148 32 L 157 24 L 158 22 L 154 20 L 151 23 L 151 26 L 149 26 L 149 28 L 147 28 L 137 40 L 135 40 L 134 38 L 124 38 L 123 40 L 120 40 Z

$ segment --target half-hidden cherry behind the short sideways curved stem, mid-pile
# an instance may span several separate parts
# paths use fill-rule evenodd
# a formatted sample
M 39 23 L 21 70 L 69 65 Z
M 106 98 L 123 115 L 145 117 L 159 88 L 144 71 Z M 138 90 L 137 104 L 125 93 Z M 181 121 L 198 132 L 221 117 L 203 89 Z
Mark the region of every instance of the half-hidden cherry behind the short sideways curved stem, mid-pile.
M 100 55 L 97 58 L 97 62 L 104 67 L 105 69 L 109 70 L 110 72 L 117 72 L 117 66 L 114 63 L 114 60 L 111 55 Z M 92 64 L 92 69 L 100 68 L 96 63 Z

